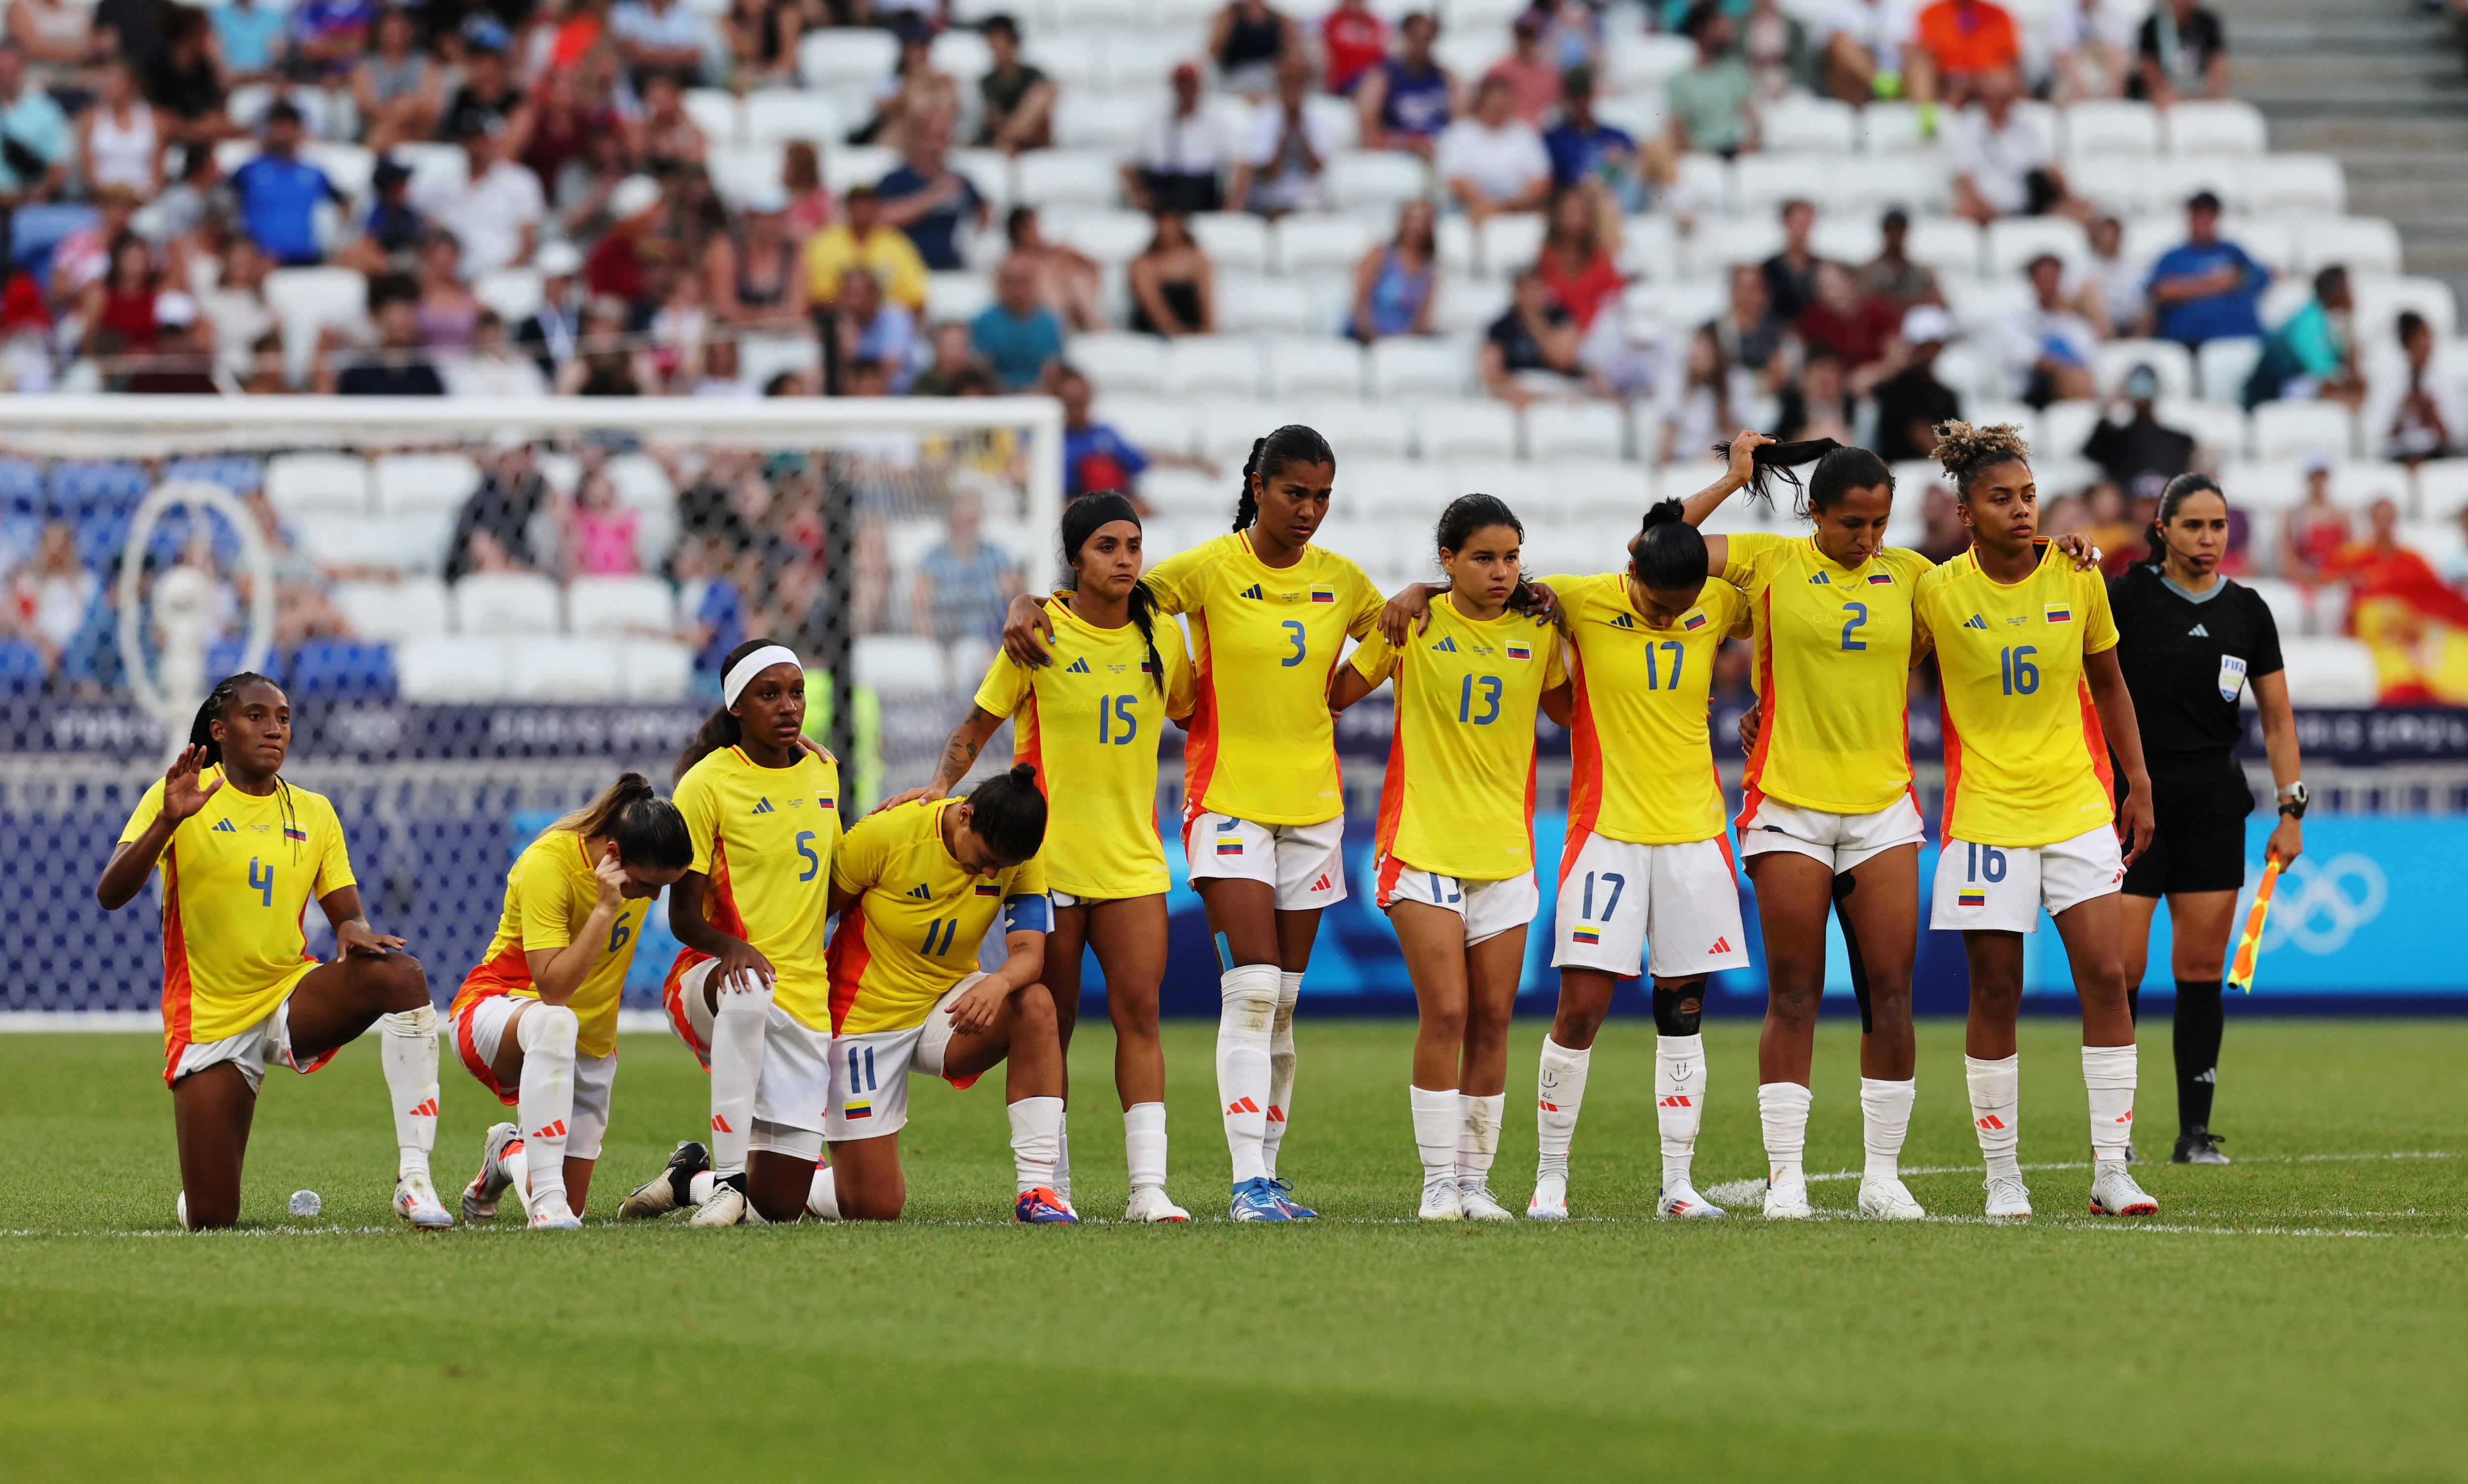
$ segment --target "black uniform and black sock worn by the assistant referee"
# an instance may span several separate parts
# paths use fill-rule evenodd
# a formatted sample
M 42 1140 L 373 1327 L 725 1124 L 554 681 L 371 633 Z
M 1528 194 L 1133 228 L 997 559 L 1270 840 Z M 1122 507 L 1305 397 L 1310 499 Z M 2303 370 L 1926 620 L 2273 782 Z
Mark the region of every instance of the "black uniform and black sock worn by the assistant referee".
M 2253 588 L 2219 578 L 2192 595 L 2135 565 L 2108 585 L 2118 620 L 2118 667 L 2135 699 L 2142 761 L 2152 775 L 2150 847 L 2125 872 L 2127 896 L 2236 891 L 2246 884 L 2246 815 L 2253 790 L 2236 761 L 2246 733 L 2246 684 L 2285 669 L 2280 630 Z M 2122 783 L 2122 773 L 2120 773 Z M 2177 1121 L 2182 1136 L 2211 1126 L 2219 1037 L 2219 980 L 2177 980 Z

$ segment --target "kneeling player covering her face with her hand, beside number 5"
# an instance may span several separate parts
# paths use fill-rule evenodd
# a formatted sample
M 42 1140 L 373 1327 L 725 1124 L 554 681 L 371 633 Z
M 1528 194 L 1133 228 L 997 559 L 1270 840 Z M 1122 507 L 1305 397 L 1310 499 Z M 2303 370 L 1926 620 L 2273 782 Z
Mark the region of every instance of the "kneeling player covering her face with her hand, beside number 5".
M 521 1123 L 489 1128 L 464 1220 L 496 1215 L 513 1188 L 533 1230 L 573 1230 L 617 1084 L 617 1000 L 642 914 L 686 874 L 694 847 L 676 805 L 624 773 L 523 847 L 489 953 L 454 995 L 454 1049 Z

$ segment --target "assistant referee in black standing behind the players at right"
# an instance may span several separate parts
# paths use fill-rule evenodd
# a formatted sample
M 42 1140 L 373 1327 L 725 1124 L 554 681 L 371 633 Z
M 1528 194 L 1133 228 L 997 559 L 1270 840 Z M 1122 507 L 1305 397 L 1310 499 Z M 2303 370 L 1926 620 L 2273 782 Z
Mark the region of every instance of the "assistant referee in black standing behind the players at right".
M 2288 709 L 2280 630 L 2253 588 L 2219 575 L 2229 553 L 2229 499 L 2209 474 L 2179 474 L 2160 496 L 2152 558 L 2108 585 L 2118 620 L 2118 664 L 2135 696 L 2142 758 L 2150 763 L 2157 837 L 2125 872 L 2125 983 L 2150 961 L 2152 914 L 2167 896 L 2177 978 L 2177 1151 L 2174 1163 L 2224 1165 L 2211 1133 L 2219 1089 L 2221 970 L 2246 884 L 2246 815 L 2253 790 L 2236 761 L 2243 738 L 2238 694 L 2253 686 L 2263 746 L 2278 783 L 2280 822 L 2271 852 L 2305 849 L 2305 783 Z M 2122 783 L 2122 770 L 2120 770 Z

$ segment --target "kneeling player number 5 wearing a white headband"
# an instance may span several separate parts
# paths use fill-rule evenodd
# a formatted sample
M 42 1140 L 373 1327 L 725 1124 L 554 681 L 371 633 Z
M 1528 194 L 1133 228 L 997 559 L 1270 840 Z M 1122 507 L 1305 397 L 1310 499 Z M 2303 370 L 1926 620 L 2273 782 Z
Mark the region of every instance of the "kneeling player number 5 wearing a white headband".
M 619 1217 L 696 1205 L 731 1227 L 748 1207 L 797 1220 L 824 1188 L 822 1077 L 832 1049 L 822 961 L 839 847 L 839 765 L 802 746 L 805 667 L 770 640 L 721 662 L 721 709 L 676 761 L 694 862 L 669 901 L 681 943 L 661 1003 L 711 1069 L 711 1165 L 689 1141 Z

